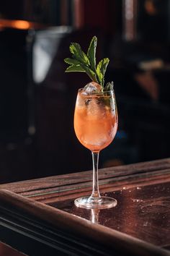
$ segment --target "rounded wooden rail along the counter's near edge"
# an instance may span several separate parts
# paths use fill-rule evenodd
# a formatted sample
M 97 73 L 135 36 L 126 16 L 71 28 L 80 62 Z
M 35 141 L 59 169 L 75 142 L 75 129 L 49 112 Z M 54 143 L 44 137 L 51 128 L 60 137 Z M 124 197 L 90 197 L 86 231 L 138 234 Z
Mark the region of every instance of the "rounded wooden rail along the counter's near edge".
M 28 213 L 32 213 L 33 216 L 48 221 L 48 223 L 51 223 L 55 227 L 68 231 L 72 230 L 73 234 L 83 235 L 88 239 L 93 239 L 94 242 L 104 244 L 104 246 L 113 247 L 114 249 L 116 247 L 120 250 L 123 248 L 124 252 L 128 251 L 131 255 L 170 255 L 170 252 L 155 247 L 152 244 L 122 234 L 119 231 L 108 229 L 99 224 L 91 223 L 91 221 L 86 221 L 83 218 L 63 212 L 63 210 L 58 210 L 49 205 L 30 200 L 5 189 L 1 189 L 0 191 L 0 200 L 1 202 L 9 202 L 15 207 L 17 206 Z

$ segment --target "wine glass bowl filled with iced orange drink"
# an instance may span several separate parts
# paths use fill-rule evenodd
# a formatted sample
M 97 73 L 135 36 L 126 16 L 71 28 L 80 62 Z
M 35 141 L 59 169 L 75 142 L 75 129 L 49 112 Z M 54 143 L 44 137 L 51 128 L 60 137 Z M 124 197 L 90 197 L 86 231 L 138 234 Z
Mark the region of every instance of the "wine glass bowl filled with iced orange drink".
M 74 112 L 76 136 L 91 151 L 106 148 L 117 132 L 117 108 L 113 94 L 86 95 L 79 91 Z

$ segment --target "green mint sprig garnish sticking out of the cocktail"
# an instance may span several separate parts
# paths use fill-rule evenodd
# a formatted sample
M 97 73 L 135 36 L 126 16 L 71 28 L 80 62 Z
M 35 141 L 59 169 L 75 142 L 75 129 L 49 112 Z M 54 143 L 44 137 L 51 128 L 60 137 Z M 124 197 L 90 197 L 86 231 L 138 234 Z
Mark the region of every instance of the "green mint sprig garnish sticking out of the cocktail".
M 87 54 L 82 51 L 79 43 L 71 43 L 70 51 L 72 58 L 64 59 L 64 61 L 70 65 L 66 69 L 66 72 L 86 72 L 92 81 L 97 82 L 102 86 L 103 90 L 112 90 L 113 82 L 108 82 L 107 85 L 104 86 L 104 74 L 107 70 L 109 59 L 102 59 L 96 66 L 96 50 L 96 36 L 91 39 Z

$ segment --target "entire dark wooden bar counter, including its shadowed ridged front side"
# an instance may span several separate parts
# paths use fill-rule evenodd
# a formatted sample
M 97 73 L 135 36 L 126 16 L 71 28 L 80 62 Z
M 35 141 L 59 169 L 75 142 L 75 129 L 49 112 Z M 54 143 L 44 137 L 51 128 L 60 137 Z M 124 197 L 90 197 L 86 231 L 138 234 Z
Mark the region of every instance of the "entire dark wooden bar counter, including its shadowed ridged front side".
M 26 255 L 170 255 L 170 158 L 99 170 L 106 210 L 76 208 L 92 171 L 0 185 L 0 241 Z

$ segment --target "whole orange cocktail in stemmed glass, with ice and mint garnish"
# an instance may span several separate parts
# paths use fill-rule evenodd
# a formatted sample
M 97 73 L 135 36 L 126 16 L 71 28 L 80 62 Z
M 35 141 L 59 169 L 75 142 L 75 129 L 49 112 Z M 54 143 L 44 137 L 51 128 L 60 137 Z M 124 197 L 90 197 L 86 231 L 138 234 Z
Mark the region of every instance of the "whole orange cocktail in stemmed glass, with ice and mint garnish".
M 71 66 L 66 72 L 86 72 L 92 82 L 79 89 L 74 112 L 76 137 L 84 147 L 91 150 L 93 161 L 93 189 L 91 196 L 77 198 L 74 202 L 80 208 L 104 209 L 117 205 L 112 197 L 101 197 L 99 193 L 99 152 L 106 148 L 117 132 L 117 106 L 113 83 L 104 86 L 104 73 L 109 59 L 102 59 L 96 67 L 97 38 L 92 38 L 87 54 L 78 43 L 71 43 L 72 59 L 65 59 Z

